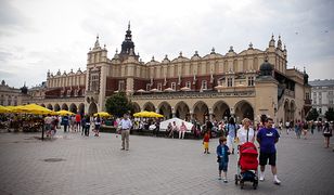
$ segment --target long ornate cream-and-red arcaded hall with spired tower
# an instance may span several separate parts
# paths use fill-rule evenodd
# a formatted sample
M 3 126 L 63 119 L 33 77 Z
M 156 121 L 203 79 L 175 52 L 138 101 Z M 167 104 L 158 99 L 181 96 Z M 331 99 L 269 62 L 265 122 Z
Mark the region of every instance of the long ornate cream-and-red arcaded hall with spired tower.
M 107 57 L 99 37 L 87 56 L 87 69 L 68 74 L 48 73 L 47 88 L 36 103 L 57 110 L 95 113 L 104 110 L 112 94 L 124 91 L 136 112 L 154 110 L 166 118 L 222 118 L 231 115 L 257 120 L 261 114 L 279 120 L 301 119 L 310 108 L 307 74 L 287 69 L 287 51 L 281 37 L 272 36 L 268 48 L 233 47 L 226 54 L 213 48 L 201 56 L 142 62 L 134 52 L 130 25 L 121 51 Z M 30 100 L 31 102 L 31 100 Z

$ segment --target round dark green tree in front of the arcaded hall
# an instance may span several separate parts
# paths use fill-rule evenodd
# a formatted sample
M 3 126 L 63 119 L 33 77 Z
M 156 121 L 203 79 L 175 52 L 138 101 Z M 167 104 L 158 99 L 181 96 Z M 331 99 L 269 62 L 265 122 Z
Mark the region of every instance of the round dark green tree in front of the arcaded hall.
M 132 112 L 133 106 L 127 95 L 124 92 L 119 92 L 106 100 L 105 108 L 107 113 L 121 117 L 124 114 Z

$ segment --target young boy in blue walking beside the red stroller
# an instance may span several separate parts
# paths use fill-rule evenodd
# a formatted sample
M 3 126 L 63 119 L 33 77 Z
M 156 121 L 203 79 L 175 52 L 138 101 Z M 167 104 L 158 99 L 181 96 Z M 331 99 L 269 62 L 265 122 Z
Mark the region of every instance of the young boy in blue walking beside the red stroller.
M 219 180 L 221 180 L 221 170 L 223 171 L 223 182 L 228 183 L 227 174 L 228 174 L 228 164 L 229 164 L 229 155 L 230 150 L 229 146 L 227 145 L 227 138 L 221 136 L 219 139 L 219 145 L 217 146 L 217 162 L 219 165 Z

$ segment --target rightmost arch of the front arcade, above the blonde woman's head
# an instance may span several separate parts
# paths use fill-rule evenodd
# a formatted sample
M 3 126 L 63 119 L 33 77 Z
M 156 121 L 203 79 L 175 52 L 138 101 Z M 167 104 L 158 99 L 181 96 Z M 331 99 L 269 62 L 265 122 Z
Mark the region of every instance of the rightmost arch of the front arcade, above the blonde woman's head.
M 244 118 L 254 120 L 254 108 L 249 102 L 245 100 L 237 102 L 234 106 L 234 110 L 236 122 L 241 122 L 241 120 Z

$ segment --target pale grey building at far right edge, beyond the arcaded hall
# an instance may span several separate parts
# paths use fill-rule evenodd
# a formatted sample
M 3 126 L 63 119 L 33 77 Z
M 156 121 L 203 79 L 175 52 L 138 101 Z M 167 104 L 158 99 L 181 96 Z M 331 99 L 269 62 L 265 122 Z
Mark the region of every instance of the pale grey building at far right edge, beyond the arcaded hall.
M 324 114 L 330 107 L 334 107 L 334 80 L 312 80 L 311 88 L 312 105 L 319 113 L 319 117 L 324 118 Z

